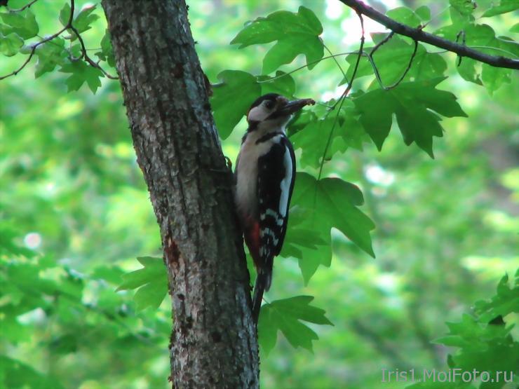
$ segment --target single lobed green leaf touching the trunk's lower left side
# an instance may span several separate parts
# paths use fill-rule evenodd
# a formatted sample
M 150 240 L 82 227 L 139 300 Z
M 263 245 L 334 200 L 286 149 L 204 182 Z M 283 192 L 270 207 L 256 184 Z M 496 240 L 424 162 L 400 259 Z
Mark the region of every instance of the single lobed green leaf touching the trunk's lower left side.
M 148 306 L 159 308 L 168 292 L 168 276 L 163 261 L 154 257 L 138 257 L 137 261 L 144 267 L 123 275 L 123 283 L 116 290 L 139 288 L 133 296 L 137 310 Z

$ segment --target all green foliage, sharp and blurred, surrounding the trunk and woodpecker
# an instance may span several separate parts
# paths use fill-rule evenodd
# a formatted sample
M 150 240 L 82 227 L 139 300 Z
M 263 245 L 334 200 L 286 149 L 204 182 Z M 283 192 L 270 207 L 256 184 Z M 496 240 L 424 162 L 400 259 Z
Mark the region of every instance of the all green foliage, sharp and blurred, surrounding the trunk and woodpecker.
M 0 8 L 0 76 L 67 24 L 67 4 Z M 114 74 L 96 4 L 77 1 L 74 25 L 89 55 Z M 385 11 L 447 39 L 464 29 L 466 45 L 518 57 L 514 4 L 405 1 Z M 454 55 L 419 44 L 403 82 L 383 90 L 403 76 L 414 46 L 393 37 L 372 56 L 379 78 L 361 57 L 341 102 L 360 26 L 339 1 L 189 5 L 231 159 L 257 95 L 321 102 L 288 128 L 299 174 L 260 318 L 262 386 L 410 384 L 382 383 L 382 369 L 519 376 L 516 74 L 468 58 L 457 66 Z M 386 37 L 369 20 L 365 28 L 368 50 Z M 159 228 L 121 90 L 71 60 L 79 42 L 70 32 L 63 38 L 41 44 L 26 69 L 0 81 L 0 388 L 167 388 L 171 313 L 154 258 Z M 406 146 L 412 142 L 426 153 Z M 515 280 L 502 278 L 506 272 Z

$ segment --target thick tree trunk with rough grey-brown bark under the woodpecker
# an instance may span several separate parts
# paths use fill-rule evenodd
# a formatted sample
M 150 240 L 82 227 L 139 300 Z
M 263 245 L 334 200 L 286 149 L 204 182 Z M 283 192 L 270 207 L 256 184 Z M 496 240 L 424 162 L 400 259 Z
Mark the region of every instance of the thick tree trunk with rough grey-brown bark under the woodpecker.
M 175 388 L 257 388 L 250 284 L 184 0 L 103 0 L 173 299 Z M 145 374 L 143 372 L 143 374 Z

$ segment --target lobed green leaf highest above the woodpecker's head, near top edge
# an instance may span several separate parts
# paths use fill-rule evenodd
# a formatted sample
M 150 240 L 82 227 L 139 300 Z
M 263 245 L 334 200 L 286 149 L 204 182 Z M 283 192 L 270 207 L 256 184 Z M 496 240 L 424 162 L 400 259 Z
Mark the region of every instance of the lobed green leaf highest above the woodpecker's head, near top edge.
M 240 48 L 253 44 L 277 41 L 263 60 L 263 73 L 269 74 L 282 64 L 292 62 L 299 54 L 306 56 L 306 64 L 312 69 L 324 54 L 323 42 L 319 35 L 323 26 L 316 15 L 304 6 L 297 13 L 277 11 L 267 18 L 257 18 L 246 25 L 231 41 Z

